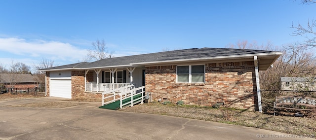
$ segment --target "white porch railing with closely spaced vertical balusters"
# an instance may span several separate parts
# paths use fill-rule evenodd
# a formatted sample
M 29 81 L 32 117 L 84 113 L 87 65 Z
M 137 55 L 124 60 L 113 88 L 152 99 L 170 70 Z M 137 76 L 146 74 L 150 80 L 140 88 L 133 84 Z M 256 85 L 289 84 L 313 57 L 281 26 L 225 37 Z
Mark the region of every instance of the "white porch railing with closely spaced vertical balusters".
M 107 92 L 107 91 L 118 89 L 120 87 L 125 87 L 128 85 L 130 85 L 130 83 L 86 83 L 85 91 Z M 120 92 L 123 92 L 123 91 L 124 90 Z

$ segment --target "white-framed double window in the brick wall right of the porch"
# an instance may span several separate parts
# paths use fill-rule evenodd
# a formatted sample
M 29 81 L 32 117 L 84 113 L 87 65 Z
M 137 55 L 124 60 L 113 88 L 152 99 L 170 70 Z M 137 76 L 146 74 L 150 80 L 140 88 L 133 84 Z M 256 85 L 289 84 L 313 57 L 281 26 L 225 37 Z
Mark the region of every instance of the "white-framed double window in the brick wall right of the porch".
M 197 83 L 204 82 L 204 65 L 177 66 L 177 82 Z

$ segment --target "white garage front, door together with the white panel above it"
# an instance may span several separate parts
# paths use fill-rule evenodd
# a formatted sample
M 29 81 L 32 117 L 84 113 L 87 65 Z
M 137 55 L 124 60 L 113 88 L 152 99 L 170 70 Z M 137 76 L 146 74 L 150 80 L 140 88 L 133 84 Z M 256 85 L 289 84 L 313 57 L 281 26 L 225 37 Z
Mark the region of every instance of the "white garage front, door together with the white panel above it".
M 50 96 L 71 99 L 71 71 L 51 72 Z

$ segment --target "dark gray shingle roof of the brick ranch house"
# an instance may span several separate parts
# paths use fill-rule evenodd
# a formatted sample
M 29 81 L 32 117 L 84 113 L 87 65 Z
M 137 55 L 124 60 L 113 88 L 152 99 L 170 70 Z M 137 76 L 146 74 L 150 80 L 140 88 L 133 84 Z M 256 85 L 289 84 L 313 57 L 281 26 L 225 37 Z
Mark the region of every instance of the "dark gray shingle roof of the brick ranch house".
M 91 63 L 76 63 L 58 67 L 52 67 L 44 70 L 54 69 L 88 69 L 98 67 L 111 67 L 111 66 L 124 66 L 131 65 L 133 63 L 147 63 L 147 62 L 159 62 L 159 61 L 173 61 L 173 60 L 186 60 L 186 59 L 199 59 L 199 58 L 214 58 L 224 56 L 237 56 L 237 55 L 251 55 L 261 53 L 274 53 L 276 51 L 264 51 L 264 50 L 250 50 L 250 49 L 230 49 L 230 48 L 192 48 L 174 51 L 165 51 L 158 53 L 149 53 L 141 55 L 132 55 L 124 57 L 114 57 L 103 59 Z M 278 56 L 277 56 L 278 57 Z

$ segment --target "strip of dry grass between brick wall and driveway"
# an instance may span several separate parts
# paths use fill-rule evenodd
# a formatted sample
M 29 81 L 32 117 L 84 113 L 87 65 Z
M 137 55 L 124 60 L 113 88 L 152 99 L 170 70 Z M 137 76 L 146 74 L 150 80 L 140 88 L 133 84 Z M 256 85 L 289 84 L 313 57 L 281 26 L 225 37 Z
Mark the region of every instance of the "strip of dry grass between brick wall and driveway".
M 230 108 L 216 109 L 193 105 L 162 105 L 160 103 L 134 105 L 133 107 L 123 108 L 121 111 L 222 122 L 316 138 L 316 121 L 308 117 L 273 116 Z

